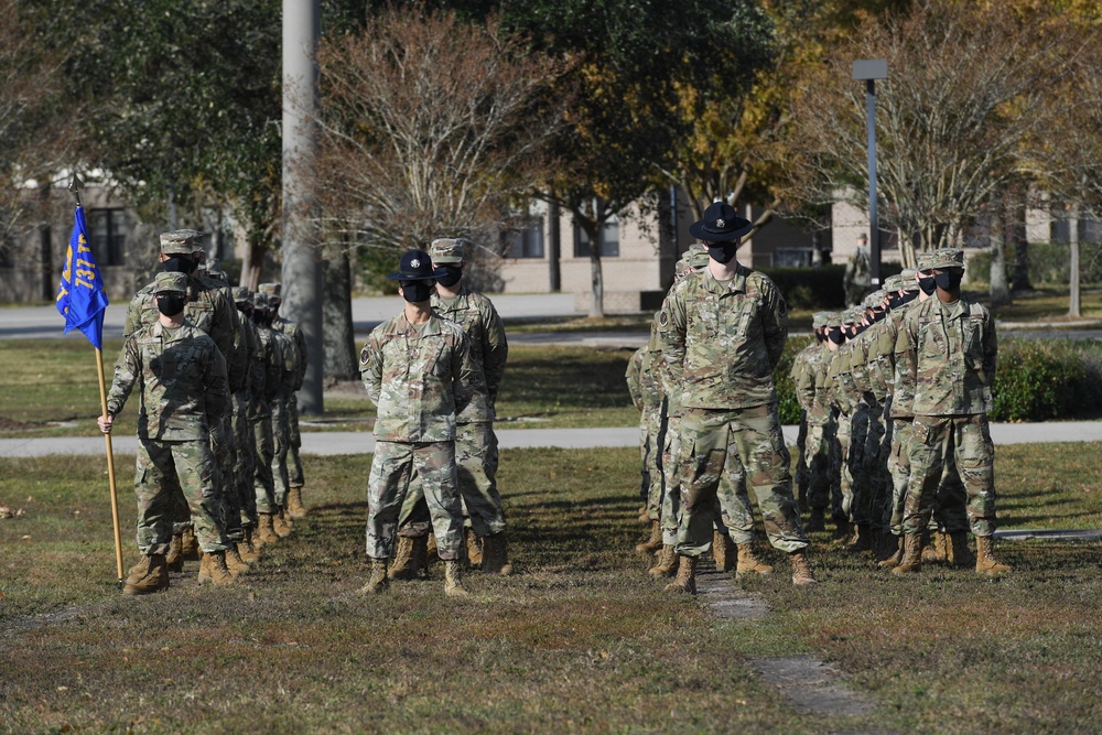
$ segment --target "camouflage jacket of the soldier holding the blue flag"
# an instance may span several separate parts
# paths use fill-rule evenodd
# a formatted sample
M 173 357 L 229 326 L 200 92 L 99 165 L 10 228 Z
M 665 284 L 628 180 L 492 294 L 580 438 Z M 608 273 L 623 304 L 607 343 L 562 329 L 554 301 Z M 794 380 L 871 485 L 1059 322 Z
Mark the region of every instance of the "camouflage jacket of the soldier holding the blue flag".
M 186 321 L 175 328 L 158 322 L 130 335 L 115 365 L 109 415 L 118 415 L 136 386 L 142 439 L 206 439 L 231 408 L 226 360 L 214 341 Z

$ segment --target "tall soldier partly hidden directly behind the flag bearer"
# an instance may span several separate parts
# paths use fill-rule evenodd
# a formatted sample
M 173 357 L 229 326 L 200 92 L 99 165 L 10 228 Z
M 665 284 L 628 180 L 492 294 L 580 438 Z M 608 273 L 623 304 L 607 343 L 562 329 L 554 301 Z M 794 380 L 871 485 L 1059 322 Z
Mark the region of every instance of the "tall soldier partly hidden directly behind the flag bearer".
M 231 392 L 240 389 L 247 370 L 247 355 L 242 349 L 239 337 L 240 321 L 237 310 L 234 307 L 231 299 L 227 295 L 225 284 L 213 282 L 198 274 L 199 262 L 202 261 L 203 233 L 194 229 L 179 229 L 163 233 L 160 236 L 161 253 L 159 262 L 166 272 L 181 272 L 187 275 L 187 305 L 185 313 L 188 322 L 196 328 L 207 334 L 226 360 L 226 370 L 229 379 Z M 138 291 L 127 310 L 127 322 L 123 327 L 123 337 L 128 337 L 142 326 L 156 323 L 158 309 L 153 299 L 153 284 L 149 284 Z M 219 502 L 226 505 L 224 517 L 227 518 L 226 532 L 230 539 L 240 541 L 245 538 L 245 530 L 236 519 L 239 512 L 237 509 L 236 494 L 233 487 L 227 485 L 226 478 L 233 473 L 233 461 L 227 447 L 233 444 L 233 411 L 229 407 L 223 412 L 210 426 L 210 442 L 215 445 L 215 460 L 219 463 L 218 475 L 215 478 L 215 490 Z M 169 552 L 169 565 L 179 571 L 182 569 L 183 559 L 195 558 L 198 554 L 195 548 L 195 534 L 192 523 L 187 518 L 187 502 L 180 488 L 170 488 L 176 498 L 175 520 L 173 523 L 173 543 Z M 236 545 L 228 555 L 230 569 L 244 571 L 237 554 Z

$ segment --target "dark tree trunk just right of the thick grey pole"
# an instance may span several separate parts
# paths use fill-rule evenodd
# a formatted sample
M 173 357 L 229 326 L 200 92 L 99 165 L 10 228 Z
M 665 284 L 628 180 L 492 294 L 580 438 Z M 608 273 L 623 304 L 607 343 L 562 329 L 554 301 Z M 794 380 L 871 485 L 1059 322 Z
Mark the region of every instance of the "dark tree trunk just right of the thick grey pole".
M 352 321 L 352 267 L 348 251 L 326 245 L 322 261 L 322 348 L 326 381 L 359 377 L 356 336 Z

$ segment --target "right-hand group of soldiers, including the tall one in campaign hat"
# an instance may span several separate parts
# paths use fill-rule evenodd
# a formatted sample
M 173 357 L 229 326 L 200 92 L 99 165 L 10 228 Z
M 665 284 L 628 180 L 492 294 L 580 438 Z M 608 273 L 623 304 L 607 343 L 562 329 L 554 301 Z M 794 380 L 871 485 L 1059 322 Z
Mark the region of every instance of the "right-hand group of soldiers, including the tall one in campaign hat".
M 702 245 L 678 262 L 628 364 L 640 520 L 651 525 L 636 550 L 656 554 L 650 574 L 694 593 L 707 553 L 724 572 L 771 573 L 754 553 L 747 487 L 795 584 L 815 583 L 807 534 L 828 521 L 835 544 L 894 574 L 923 562 L 1008 571 L 993 549 L 997 342 L 991 314 L 961 293 L 963 251 L 922 253 L 917 270 L 856 306 L 814 314 L 815 339 L 791 368 L 802 414 L 793 478 L 773 385 L 786 306 L 768 278 L 734 260 L 749 228 L 725 204 L 709 207 L 691 228 Z

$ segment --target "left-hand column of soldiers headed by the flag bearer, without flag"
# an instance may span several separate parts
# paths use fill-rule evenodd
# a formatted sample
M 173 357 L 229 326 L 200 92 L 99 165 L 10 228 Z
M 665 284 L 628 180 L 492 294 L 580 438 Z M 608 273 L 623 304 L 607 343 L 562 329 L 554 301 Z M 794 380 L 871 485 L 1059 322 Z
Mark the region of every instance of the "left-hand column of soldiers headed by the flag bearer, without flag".
M 107 414 L 111 431 L 139 396 L 134 473 L 141 561 L 123 594 L 198 580 L 233 584 L 266 544 L 306 514 L 295 391 L 306 369 L 302 331 L 279 316 L 278 283 L 231 289 L 204 268 L 203 234 L 161 235 L 162 271 L 130 302 Z

